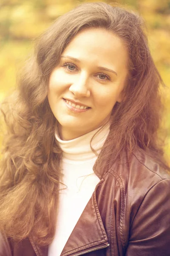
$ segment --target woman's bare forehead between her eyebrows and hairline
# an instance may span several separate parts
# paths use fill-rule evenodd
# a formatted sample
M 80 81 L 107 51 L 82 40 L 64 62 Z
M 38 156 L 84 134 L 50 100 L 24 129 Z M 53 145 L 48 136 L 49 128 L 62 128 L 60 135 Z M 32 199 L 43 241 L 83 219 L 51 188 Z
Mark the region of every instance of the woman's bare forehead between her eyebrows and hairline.
M 121 38 L 102 28 L 88 28 L 80 31 L 67 45 L 65 55 L 89 59 L 98 64 L 127 66 L 128 54 Z

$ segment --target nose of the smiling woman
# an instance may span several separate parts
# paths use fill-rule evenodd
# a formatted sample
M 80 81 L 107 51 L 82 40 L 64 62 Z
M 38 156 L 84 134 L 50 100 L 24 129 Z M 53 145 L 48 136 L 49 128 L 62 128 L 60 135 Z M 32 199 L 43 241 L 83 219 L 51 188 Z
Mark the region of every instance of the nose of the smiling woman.
M 88 77 L 85 74 L 80 74 L 72 82 L 69 91 L 74 94 L 76 98 L 89 97 L 90 90 L 88 88 Z

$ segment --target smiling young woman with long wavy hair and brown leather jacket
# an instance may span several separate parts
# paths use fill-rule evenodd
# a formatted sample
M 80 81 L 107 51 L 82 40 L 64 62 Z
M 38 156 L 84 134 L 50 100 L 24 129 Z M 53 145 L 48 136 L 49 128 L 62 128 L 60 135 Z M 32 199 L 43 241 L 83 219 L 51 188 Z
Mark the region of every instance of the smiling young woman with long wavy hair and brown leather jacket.
M 85 3 L 40 37 L 4 105 L 0 256 L 168 256 L 161 77 L 143 20 Z

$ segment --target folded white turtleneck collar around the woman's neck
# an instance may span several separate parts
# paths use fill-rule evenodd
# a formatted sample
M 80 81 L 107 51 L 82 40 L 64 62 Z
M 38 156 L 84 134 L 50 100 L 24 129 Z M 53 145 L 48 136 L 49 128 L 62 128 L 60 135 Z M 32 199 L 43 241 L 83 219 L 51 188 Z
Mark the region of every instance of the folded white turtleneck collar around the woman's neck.
M 100 128 L 101 127 L 73 140 L 61 140 L 58 130 L 56 129 L 55 138 L 58 141 L 60 148 L 62 149 L 63 159 L 85 161 L 95 158 L 96 154 L 91 150 L 91 146 L 94 148 L 97 154 L 100 153 L 102 146 L 108 137 L 110 124 L 105 125 L 101 130 Z M 97 131 L 99 132 L 96 134 Z M 94 136 L 94 134 L 96 135 Z M 91 142 L 93 136 L 94 138 Z

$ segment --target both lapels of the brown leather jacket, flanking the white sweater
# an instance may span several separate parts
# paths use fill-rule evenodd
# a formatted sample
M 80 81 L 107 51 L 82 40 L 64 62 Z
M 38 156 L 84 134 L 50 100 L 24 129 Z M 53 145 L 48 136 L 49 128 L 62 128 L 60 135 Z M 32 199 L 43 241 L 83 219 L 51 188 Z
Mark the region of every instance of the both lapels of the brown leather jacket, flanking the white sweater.
M 38 247 L 30 238 L 37 256 L 48 256 L 48 248 Z M 97 250 L 108 245 L 108 237 L 93 193 L 71 233 L 61 256 L 73 256 L 88 250 Z

